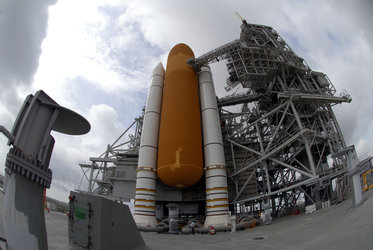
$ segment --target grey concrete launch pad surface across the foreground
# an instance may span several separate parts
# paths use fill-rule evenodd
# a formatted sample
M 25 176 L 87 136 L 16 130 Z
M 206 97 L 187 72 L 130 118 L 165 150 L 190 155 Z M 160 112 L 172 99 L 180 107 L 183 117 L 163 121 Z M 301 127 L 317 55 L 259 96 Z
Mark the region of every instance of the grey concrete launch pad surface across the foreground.
M 0 192 L 0 208 L 4 194 Z M 352 200 L 312 214 L 274 219 L 272 225 L 216 235 L 170 235 L 142 232 L 144 249 L 371 249 L 373 245 L 373 190 L 364 193 L 364 203 Z M 2 213 L 1 213 L 2 214 Z M 3 237 L 2 216 L 0 236 Z M 67 216 L 46 213 L 49 249 L 77 249 L 68 245 Z

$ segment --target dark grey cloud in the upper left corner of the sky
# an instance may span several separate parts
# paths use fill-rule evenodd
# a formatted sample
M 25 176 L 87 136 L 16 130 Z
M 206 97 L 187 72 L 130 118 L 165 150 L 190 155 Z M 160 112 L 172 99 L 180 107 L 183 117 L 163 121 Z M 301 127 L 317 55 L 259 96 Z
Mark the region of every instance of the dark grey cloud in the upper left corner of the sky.
M 46 35 L 48 7 L 55 1 L 0 1 L 0 124 L 8 130 L 29 93 Z M 21 96 L 21 97 L 20 97 Z M 0 135 L 0 162 L 9 150 Z M 0 172 L 4 172 L 0 168 Z

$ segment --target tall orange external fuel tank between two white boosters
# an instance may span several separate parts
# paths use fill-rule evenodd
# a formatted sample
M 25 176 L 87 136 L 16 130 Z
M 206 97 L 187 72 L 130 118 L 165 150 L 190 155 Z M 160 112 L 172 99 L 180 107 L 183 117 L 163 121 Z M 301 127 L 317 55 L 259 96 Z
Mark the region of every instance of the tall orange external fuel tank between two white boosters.
M 203 175 L 197 75 L 187 60 L 186 44 L 177 44 L 167 59 L 158 141 L 157 174 L 169 186 L 186 188 Z

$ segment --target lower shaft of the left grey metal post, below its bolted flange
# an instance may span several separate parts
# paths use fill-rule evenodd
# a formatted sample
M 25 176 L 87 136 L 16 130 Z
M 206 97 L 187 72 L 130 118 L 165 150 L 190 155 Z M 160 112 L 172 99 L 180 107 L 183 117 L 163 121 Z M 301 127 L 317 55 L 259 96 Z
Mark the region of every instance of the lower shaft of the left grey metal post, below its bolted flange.
M 9 168 L 5 169 L 5 178 L 2 216 L 9 249 L 48 249 L 43 207 L 45 187 Z

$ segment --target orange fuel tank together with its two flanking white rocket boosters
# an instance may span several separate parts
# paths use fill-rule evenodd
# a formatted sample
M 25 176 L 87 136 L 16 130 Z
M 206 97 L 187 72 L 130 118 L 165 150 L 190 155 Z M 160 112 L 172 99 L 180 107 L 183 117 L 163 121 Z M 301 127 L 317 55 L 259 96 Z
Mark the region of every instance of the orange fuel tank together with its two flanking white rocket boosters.
M 167 203 L 204 210 L 204 227 L 230 223 L 212 74 L 209 67 L 195 72 L 187 63 L 191 58 L 191 48 L 177 44 L 166 70 L 159 63 L 152 72 L 136 170 L 134 219 L 140 227 L 156 226 L 159 210 Z M 188 202 L 184 194 L 189 190 L 203 194 L 204 201 Z

